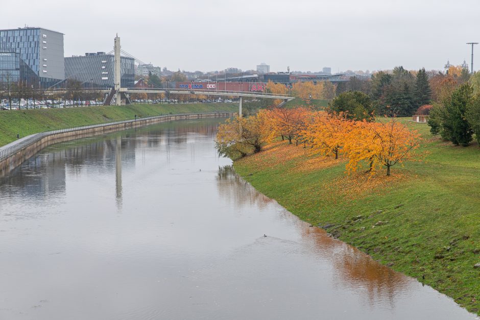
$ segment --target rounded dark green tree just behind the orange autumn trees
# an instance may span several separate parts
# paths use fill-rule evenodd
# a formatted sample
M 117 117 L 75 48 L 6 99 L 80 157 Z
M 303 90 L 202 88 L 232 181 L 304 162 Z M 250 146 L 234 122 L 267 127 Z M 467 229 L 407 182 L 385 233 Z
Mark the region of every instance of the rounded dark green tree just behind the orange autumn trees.
M 348 91 L 341 93 L 328 104 L 328 113 L 344 113 L 352 120 L 373 120 L 372 100 L 368 95 L 360 91 Z

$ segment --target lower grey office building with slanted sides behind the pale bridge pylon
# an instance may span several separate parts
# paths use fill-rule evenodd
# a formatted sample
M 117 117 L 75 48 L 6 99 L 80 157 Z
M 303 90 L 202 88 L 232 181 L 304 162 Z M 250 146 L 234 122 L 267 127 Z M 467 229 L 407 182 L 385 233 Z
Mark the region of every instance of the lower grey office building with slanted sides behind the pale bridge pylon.
M 132 88 L 135 81 L 135 60 L 121 57 L 121 86 Z M 86 53 L 85 56 L 65 58 L 65 78 L 82 82 L 87 88 L 111 88 L 114 86 L 114 55 L 105 52 Z

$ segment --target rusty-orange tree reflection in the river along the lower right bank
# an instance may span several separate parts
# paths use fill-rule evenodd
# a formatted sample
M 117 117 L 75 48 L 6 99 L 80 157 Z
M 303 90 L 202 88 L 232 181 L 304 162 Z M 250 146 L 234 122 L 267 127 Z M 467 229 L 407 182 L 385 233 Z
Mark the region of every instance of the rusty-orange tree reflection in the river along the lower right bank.
M 379 301 L 394 307 L 394 296 L 410 279 L 381 265 L 367 254 L 326 235 L 320 228 L 303 227 L 304 238 L 313 239 L 316 250 L 333 261 L 339 279 L 352 288 L 365 288 L 370 305 Z

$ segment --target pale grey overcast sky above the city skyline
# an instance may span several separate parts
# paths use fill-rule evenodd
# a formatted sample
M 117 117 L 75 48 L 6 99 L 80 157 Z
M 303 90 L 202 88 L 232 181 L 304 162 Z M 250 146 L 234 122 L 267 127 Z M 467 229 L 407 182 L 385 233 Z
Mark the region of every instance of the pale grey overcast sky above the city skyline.
M 480 0 L 3 1 L 0 29 L 64 33 L 65 56 L 122 49 L 170 70 L 441 69 L 470 65 Z M 480 45 L 475 47 L 480 67 Z

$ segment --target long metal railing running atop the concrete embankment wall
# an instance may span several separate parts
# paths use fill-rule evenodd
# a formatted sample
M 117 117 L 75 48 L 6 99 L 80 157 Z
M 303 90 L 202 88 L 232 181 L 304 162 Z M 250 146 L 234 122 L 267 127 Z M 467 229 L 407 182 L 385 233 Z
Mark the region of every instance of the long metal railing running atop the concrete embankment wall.
M 88 125 L 83 127 L 71 127 L 71 128 L 64 128 L 64 129 L 57 129 L 57 130 L 50 130 L 50 131 L 43 131 L 40 133 L 35 133 L 30 136 L 21 138 L 20 140 L 14 141 L 9 143 L 3 147 L 0 147 L 0 162 L 3 160 L 15 155 L 17 152 L 25 149 L 26 147 L 40 141 L 42 138 L 55 135 L 59 133 L 66 133 L 66 132 L 75 132 L 93 128 L 101 128 L 101 127 L 108 127 L 108 126 L 115 126 L 115 125 L 122 125 L 122 124 L 129 124 L 131 122 L 141 122 L 141 121 L 148 121 L 153 119 L 160 119 L 160 118 L 168 118 L 168 117 L 178 117 L 178 116 L 189 116 L 189 115 L 203 115 L 203 114 L 229 114 L 233 115 L 236 112 L 230 111 L 212 111 L 212 112 L 189 112 L 189 113 L 176 113 L 176 114 L 162 114 L 157 116 L 151 116 L 146 118 L 136 118 L 136 119 L 128 119 L 122 121 L 114 121 L 114 122 L 104 122 L 103 124 L 96 124 L 96 125 Z

